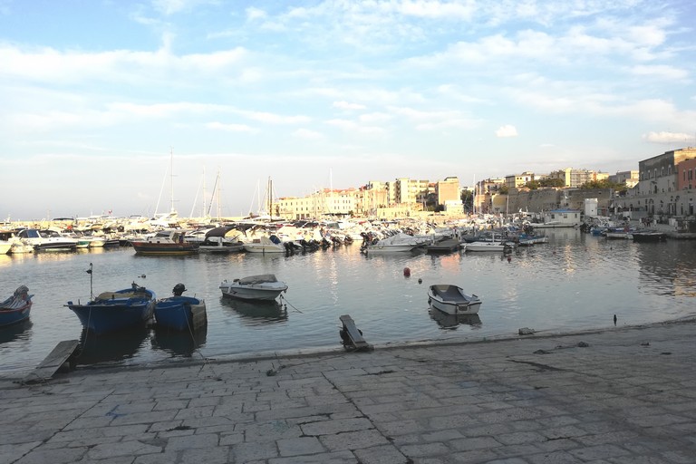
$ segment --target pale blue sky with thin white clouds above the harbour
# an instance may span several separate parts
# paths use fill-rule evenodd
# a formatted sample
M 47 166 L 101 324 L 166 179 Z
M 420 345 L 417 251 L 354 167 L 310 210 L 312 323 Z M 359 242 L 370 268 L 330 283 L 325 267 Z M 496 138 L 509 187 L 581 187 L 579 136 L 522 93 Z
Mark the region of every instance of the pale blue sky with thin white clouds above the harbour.
M 694 17 L 691 0 L 0 0 L 0 218 L 638 169 L 696 145 Z

